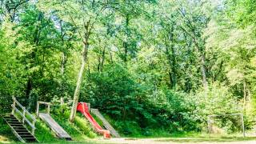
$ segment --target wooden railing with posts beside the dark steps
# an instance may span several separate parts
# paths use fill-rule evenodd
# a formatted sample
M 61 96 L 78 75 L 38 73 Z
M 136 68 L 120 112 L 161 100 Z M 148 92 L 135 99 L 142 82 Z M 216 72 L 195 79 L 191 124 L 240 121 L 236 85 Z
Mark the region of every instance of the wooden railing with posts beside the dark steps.
M 25 124 L 25 122 L 31 127 L 31 133 L 34 135 L 34 130 L 36 129 L 34 124 L 36 122 L 36 119 L 32 114 L 30 114 L 24 106 L 22 106 L 15 97 L 13 97 L 14 103 L 12 106 L 12 114 L 18 114 L 22 117 L 22 123 Z M 18 107 L 17 107 L 18 106 Z M 21 109 L 21 110 L 19 110 Z M 30 120 L 31 119 L 31 120 Z

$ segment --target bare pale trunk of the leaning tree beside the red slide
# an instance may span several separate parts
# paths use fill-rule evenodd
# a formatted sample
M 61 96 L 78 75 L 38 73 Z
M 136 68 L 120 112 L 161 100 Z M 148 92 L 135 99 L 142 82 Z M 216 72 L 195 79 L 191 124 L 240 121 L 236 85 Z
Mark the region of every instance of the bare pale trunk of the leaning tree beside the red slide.
M 83 76 L 85 66 L 86 66 L 86 61 L 87 61 L 88 47 L 89 47 L 88 41 L 84 42 L 84 48 L 82 52 L 82 64 L 78 73 L 77 86 L 74 90 L 74 99 L 73 99 L 73 105 L 72 105 L 71 114 L 70 114 L 70 122 L 74 122 L 75 114 L 77 112 L 78 98 L 80 94 L 80 88 L 82 85 L 82 76 Z

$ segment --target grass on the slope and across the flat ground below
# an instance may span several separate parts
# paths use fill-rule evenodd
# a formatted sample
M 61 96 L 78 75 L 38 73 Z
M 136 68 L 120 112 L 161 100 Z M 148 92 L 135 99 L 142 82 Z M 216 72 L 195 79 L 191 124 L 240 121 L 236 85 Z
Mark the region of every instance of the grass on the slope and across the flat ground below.
M 36 122 L 37 130 L 35 136 L 39 142 L 42 143 L 109 143 L 114 141 L 100 140 L 97 138 L 97 134 L 94 133 L 90 127 L 90 123 L 86 121 L 82 114 L 77 114 L 74 123 L 68 121 L 68 113 L 53 112 L 51 116 L 64 130 L 73 138 L 73 141 L 67 142 L 66 140 L 56 138 L 54 133 L 50 130 L 44 122 L 38 119 Z M 255 140 L 255 137 L 242 138 L 242 134 L 229 134 L 229 135 L 209 135 L 199 134 L 194 132 L 183 132 L 170 134 L 163 129 L 141 129 L 134 122 L 118 122 L 105 115 L 105 118 L 122 132 L 122 137 L 126 137 L 123 142 L 135 141 L 140 143 L 142 139 L 150 139 L 152 142 L 243 142 Z M 100 120 L 96 118 L 100 124 Z M 125 134 L 125 129 L 129 129 L 131 134 Z M 148 134 L 143 134 L 147 131 Z M 92 139 L 95 138 L 95 139 Z M 14 134 L 10 131 L 10 128 L 6 125 L 2 118 L 0 118 L 0 143 L 17 143 L 18 140 L 14 137 Z M 142 141 L 143 142 L 143 141 Z

